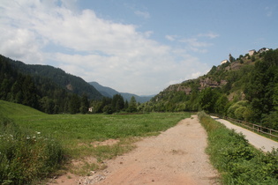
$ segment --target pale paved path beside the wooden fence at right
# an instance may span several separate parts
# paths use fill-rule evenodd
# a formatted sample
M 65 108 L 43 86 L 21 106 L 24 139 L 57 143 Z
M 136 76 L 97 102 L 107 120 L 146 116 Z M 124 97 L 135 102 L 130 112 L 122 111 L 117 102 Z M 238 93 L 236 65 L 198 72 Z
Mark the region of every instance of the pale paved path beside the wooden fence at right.
M 215 116 L 211 117 L 217 122 L 222 122 L 228 129 L 234 129 L 237 133 L 242 132 L 250 144 L 254 145 L 258 149 L 261 149 L 263 152 L 271 152 L 273 148 L 278 148 L 278 142 L 275 142 L 274 140 L 262 137 L 250 130 L 234 125 L 227 120 L 223 120 Z

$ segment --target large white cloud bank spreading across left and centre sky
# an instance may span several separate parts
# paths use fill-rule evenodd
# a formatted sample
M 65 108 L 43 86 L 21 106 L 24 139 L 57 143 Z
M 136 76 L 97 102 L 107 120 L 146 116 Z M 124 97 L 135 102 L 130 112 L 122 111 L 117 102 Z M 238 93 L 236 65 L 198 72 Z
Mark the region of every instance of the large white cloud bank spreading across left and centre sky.
M 150 40 L 152 31 L 139 33 L 134 25 L 98 18 L 92 10 L 74 11 L 74 0 L 57 2 L 3 1 L 0 53 L 26 63 L 51 61 L 86 81 L 138 94 L 158 93 L 173 81 L 207 70 L 186 50 Z M 184 41 L 194 48 L 210 45 Z M 52 46 L 58 50 L 49 50 Z

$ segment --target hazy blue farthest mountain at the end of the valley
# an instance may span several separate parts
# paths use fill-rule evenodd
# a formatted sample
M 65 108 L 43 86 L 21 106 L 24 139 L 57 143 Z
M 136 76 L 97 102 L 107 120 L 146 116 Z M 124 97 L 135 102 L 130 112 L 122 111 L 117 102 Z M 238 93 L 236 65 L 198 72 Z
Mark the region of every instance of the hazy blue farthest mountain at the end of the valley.
M 138 101 L 140 103 L 144 103 L 144 102 L 147 102 L 148 100 L 151 100 L 154 97 L 154 95 L 139 96 L 139 95 L 136 95 L 133 93 L 119 93 L 116 90 L 114 90 L 110 87 L 107 87 L 107 86 L 102 86 L 97 82 L 89 82 L 89 84 L 93 85 L 94 88 L 102 94 L 102 96 L 106 96 L 109 98 L 112 98 L 115 94 L 121 94 L 123 96 L 124 100 L 129 101 L 129 100 L 131 100 L 131 97 L 134 96 L 136 101 Z

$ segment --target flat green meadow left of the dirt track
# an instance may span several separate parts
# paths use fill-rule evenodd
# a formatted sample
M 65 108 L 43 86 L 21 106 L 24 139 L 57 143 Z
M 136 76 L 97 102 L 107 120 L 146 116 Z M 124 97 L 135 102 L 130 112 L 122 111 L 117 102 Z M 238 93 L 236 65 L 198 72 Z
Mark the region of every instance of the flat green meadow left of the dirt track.
M 40 136 L 55 139 L 66 156 L 79 160 L 80 166 L 71 167 L 71 172 L 83 175 L 103 167 L 104 159 L 112 159 L 130 151 L 133 148 L 132 143 L 139 137 L 158 135 L 160 131 L 167 130 L 190 116 L 186 113 L 46 115 L 30 107 L 0 100 L 1 114 L 12 119 L 20 130 L 31 130 L 24 137 L 33 138 L 40 133 Z M 118 142 L 113 145 L 94 144 L 108 139 L 116 139 Z M 94 157 L 97 161 L 89 163 L 86 161 L 87 157 Z

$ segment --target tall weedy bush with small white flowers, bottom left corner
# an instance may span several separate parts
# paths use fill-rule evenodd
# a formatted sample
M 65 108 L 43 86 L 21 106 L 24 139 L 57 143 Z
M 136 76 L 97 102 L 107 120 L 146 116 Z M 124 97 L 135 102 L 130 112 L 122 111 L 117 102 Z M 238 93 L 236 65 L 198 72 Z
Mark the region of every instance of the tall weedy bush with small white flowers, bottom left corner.
M 63 161 L 63 149 L 56 141 L 0 118 L 0 184 L 29 184 L 47 177 Z

